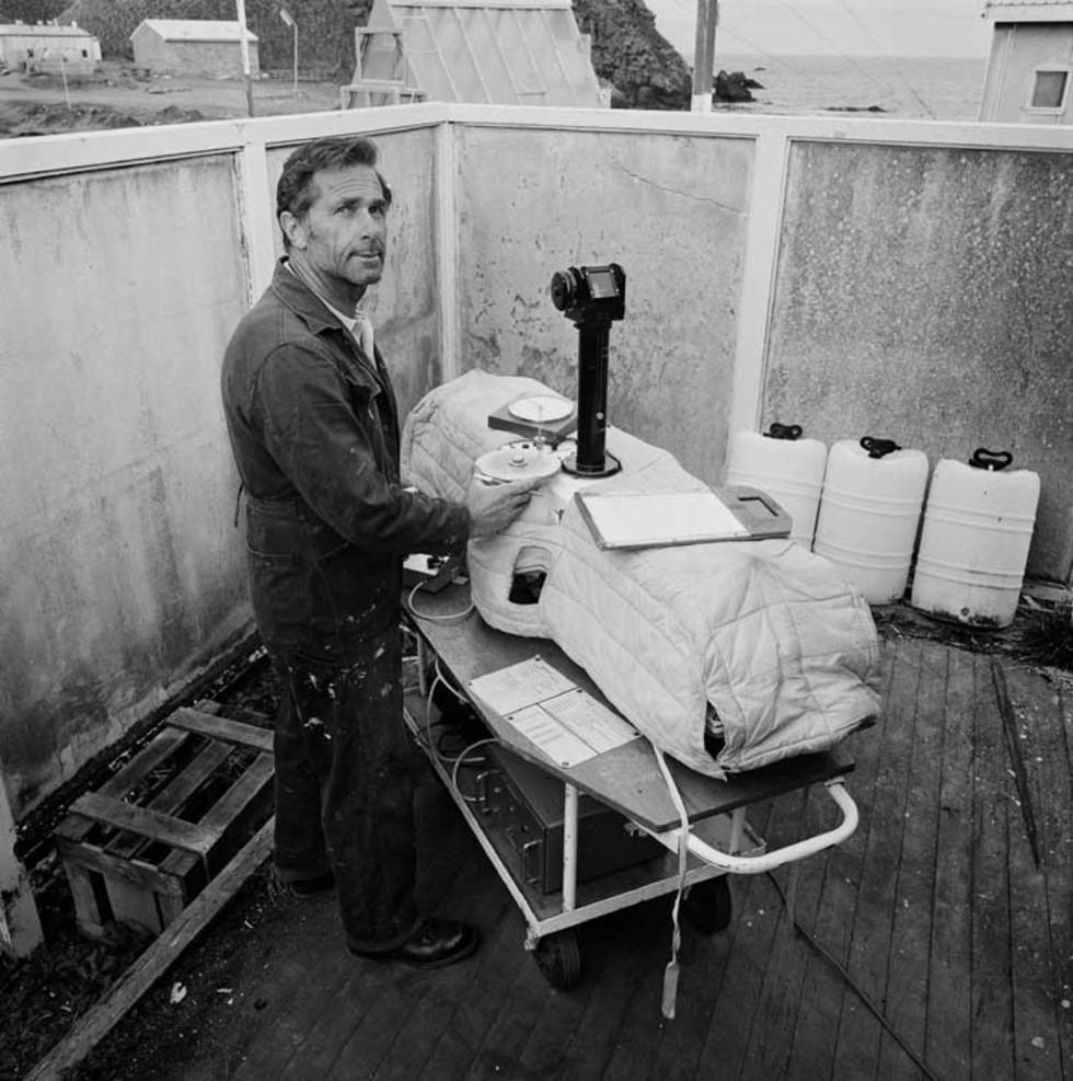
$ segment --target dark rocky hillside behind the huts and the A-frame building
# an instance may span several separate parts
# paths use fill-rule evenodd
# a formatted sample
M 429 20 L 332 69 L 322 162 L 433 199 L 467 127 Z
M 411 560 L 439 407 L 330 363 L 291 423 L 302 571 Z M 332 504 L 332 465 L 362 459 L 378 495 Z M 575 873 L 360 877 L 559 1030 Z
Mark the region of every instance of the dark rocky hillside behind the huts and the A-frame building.
M 279 0 L 245 0 L 263 70 L 289 71 L 291 31 Z M 342 81 L 354 70 L 354 27 L 371 0 L 287 0 L 301 27 L 303 72 Z M 619 108 L 688 110 L 690 71 L 656 30 L 643 0 L 575 0 L 579 27 L 592 36 L 592 65 Z M 95 34 L 106 59 L 129 59 L 130 34 L 142 19 L 234 19 L 234 0 L 0 0 L 4 20 L 58 18 Z

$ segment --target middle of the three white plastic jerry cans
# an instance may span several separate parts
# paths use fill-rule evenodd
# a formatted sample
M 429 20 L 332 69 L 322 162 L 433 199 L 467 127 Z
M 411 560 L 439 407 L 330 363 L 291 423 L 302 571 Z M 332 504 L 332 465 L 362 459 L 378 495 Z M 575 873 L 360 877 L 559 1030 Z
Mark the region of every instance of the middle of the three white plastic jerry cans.
M 922 450 L 872 436 L 831 447 L 812 551 L 841 566 L 869 605 L 905 593 L 926 484 Z

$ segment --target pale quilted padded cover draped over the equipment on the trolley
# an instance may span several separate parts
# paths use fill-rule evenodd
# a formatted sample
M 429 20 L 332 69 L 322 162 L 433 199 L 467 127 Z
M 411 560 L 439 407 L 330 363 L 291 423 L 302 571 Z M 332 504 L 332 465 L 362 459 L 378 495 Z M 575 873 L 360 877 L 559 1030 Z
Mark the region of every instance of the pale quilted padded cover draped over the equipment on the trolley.
M 532 379 L 473 370 L 431 391 L 403 434 L 409 483 L 464 497 L 476 458 L 512 438 L 488 414 Z M 706 485 L 667 451 L 609 428 L 622 472 L 604 492 Z M 503 533 L 470 542 L 473 599 L 491 625 L 552 639 L 657 747 L 701 773 L 826 750 L 879 711 L 879 647 L 867 602 L 822 556 L 788 540 L 607 551 L 574 499 L 535 498 Z M 516 570 L 546 573 L 535 605 L 512 603 Z M 704 741 L 712 715 L 723 746 Z

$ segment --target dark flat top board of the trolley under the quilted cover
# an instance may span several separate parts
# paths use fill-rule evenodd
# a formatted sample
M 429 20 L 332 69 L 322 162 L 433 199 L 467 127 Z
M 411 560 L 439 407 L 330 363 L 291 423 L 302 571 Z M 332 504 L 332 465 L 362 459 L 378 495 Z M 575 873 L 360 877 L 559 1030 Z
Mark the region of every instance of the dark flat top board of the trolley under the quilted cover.
M 469 605 L 469 587 L 454 584 L 438 594 L 418 591 L 409 608 L 414 625 L 439 658 L 441 668 L 464 690 L 478 676 L 539 656 L 603 705 L 613 709 L 586 671 L 554 642 L 504 634 L 488 626 L 475 610 L 470 610 L 465 617 L 459 616 Z M 452 619 L 452 616 L 458 618 Z M 528 761 L 648 829 L 662 831 L 680 825 L 681 819 L 647 739 L 635 739 L 565 768 L 486 703 L 475 697 L 471 700 L 495 736 Z M 821 783 L 853 769 L 852 759 L 839 749 L 800 755 L 725 781 L 697 773 L 669 756 L 667 763 L 691 823 Z

